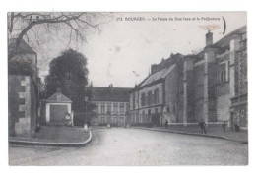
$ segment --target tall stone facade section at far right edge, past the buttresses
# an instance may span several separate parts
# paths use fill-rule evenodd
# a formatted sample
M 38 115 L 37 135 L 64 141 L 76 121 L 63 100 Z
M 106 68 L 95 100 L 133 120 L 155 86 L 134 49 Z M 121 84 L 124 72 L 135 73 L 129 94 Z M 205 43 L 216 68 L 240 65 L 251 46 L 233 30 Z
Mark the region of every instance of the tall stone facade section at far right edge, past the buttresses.
M 230 124 L 248 127 L 248 77 L 247 77 L 247 33 L 246 28 L 234 33 L 231 40 L 231 73 L 234 88 L 231 94 Z

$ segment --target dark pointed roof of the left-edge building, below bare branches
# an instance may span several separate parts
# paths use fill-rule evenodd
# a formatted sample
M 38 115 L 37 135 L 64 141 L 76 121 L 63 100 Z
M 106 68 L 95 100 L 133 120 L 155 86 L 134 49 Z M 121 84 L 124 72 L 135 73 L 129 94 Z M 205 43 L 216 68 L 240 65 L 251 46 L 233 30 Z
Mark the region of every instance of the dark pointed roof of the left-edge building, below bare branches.
M 15 51 L 16 49 L 16 40 L 17 39 L 11 39 L 10 40 L 10 44 L 8 46 L 8 53 L 12 53 Z M 36 54 L 36 52 L 34 50 L 32 50 L 32 47 L 25 42 L 24 39 L 21 39 L 20 45 L 18 47 L 18 50 L 16 50 L 18 54 Z

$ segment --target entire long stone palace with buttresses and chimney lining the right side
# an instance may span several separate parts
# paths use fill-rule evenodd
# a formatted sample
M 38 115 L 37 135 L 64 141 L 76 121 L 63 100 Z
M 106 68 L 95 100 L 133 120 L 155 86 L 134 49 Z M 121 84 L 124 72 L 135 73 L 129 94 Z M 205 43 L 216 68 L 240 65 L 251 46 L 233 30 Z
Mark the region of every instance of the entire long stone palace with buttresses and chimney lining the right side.
M 170 124 L 188 125 L 204 119 L 207 124 L 226 121 L 229 127 L 237 124 L 246 128 L 246 52 L 245 26 L 216 43 L 209 31 L 201 52 L 171 55 L 152 65 L 151 75 L 130 92 L 131 123 L 144 123 L 141 117 L 158 114 L 157 124 L 167 119 Z M 160 91 L 159 102 L 152 103 L 156 88 Z

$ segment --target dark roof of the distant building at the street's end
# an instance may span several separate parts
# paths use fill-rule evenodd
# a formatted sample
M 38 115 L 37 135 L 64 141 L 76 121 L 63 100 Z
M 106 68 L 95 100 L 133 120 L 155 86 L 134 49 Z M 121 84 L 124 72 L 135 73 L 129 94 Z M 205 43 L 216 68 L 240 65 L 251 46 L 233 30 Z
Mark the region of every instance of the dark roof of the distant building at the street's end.
M 89 88 L 89 87 L 88 87 Z M 129 87 L 91 87 L 92 101 L 129 101 Z

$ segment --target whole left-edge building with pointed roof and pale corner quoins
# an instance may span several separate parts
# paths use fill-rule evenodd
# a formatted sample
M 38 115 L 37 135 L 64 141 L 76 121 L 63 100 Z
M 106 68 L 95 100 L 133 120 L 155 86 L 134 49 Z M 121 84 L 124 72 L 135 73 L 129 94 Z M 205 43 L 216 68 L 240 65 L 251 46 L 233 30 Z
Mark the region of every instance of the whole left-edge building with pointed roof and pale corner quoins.
M 14 51 L 15 39 L 8 47 Z M 22 40 L 17 53 L 8 59 L 9 135 L 30 137 L 38 124 L 37 55 Z

